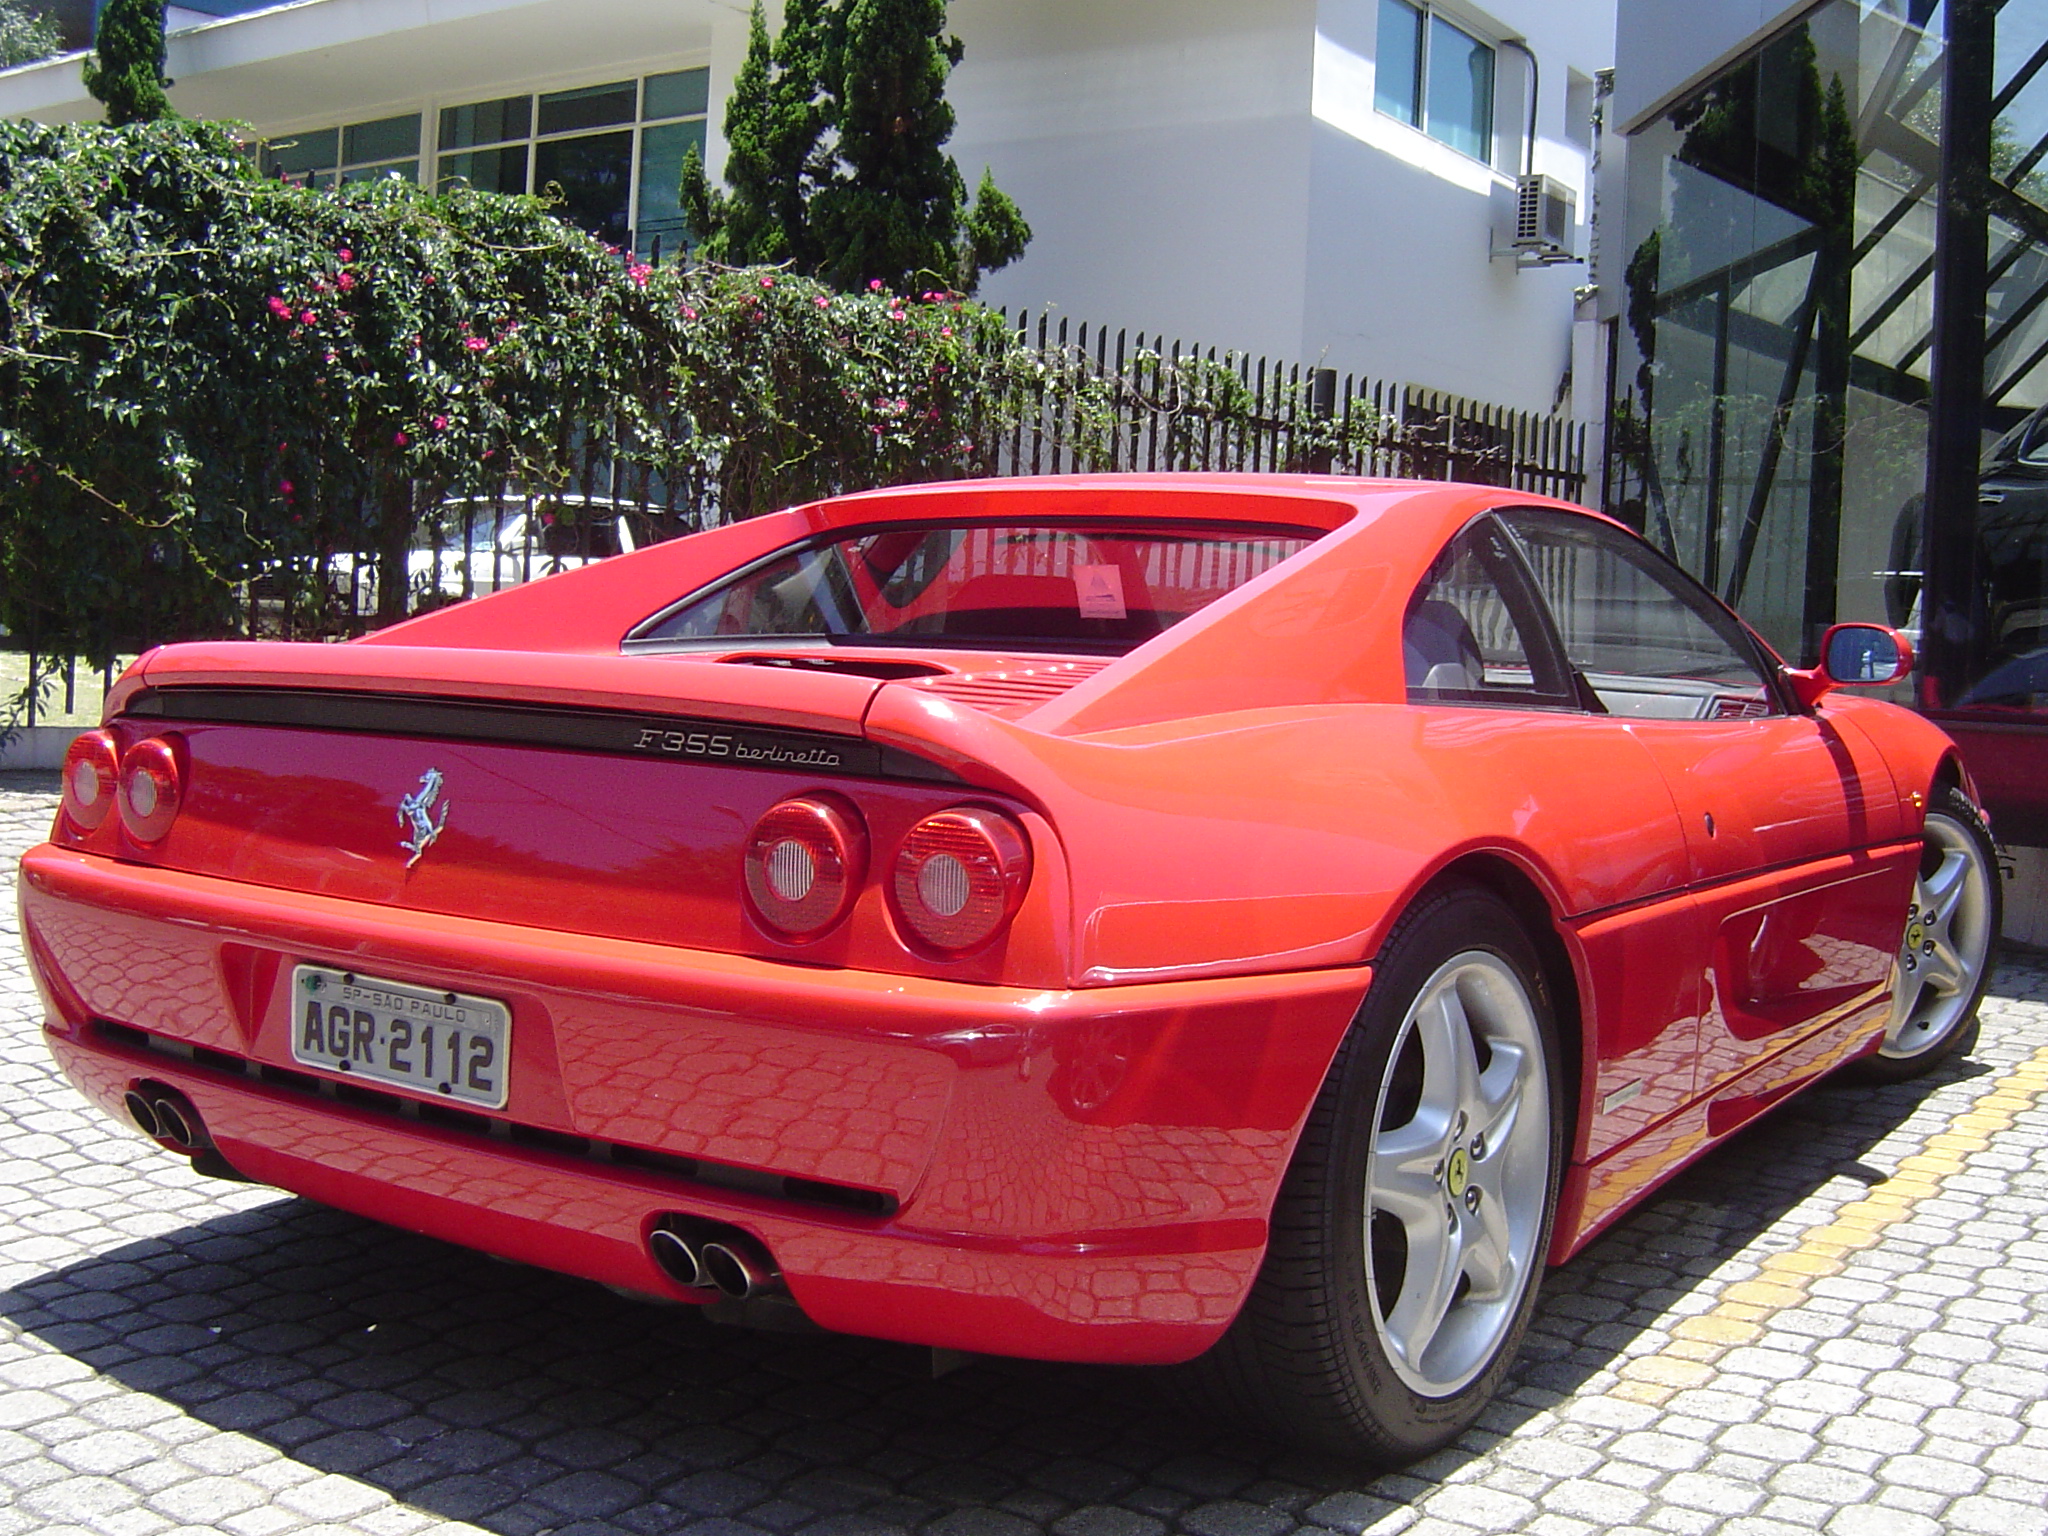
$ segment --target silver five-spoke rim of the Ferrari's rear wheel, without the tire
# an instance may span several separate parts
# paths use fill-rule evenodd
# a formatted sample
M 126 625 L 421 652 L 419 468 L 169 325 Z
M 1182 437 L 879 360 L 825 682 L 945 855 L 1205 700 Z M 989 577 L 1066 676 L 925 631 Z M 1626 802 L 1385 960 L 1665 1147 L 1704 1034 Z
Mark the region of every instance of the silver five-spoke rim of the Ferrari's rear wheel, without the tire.
M 1466 950 L 1423 983 L 1372 1122 L 1372 1321 L 1395 1374 L 1444 1397 L 1493 1360 L 1542 1260 L 1550 1085 L 1536 1010 L 1501 956 Z

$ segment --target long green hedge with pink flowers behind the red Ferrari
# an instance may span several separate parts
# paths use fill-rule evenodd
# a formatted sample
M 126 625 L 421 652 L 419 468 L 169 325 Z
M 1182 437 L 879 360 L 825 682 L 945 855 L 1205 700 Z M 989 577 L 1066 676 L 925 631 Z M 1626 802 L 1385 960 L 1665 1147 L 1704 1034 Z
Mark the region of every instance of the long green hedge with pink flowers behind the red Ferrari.
M 0 125 L 0 623 L 106 657 L 588 455 L 725 516 L 983 467 L 1032 358 L 950 297 L 651 268 L 537 199 L 260 178 L 225 129 Z

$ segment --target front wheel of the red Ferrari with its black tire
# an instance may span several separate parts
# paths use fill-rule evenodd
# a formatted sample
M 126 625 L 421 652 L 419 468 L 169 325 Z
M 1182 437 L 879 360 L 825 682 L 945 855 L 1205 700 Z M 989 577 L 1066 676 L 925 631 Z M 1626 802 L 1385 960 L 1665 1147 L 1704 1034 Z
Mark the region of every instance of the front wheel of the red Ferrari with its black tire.
M 1927 803 L 1884 1042 L 1853 1061 L 1849 1077 L 1903 1083 L 1976 1044 L 1976 1010 L 1991 985 L 2003 915 L 1991 829 L 1970 797 L 1948 784 Z

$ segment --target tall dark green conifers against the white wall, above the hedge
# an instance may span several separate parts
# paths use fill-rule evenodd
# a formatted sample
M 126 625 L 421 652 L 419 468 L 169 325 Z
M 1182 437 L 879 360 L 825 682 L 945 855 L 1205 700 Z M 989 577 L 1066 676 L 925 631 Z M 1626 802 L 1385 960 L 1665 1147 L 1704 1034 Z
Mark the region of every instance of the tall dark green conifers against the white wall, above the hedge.
M 946 78 L 963 49 L 944 0 L 788 0 L 770 39 L 760 0 L 725 109 L 725 193 L 702 160 L 684 209 L 713 262 L 788 262 L 858 291 L 973 293 L 1030 242 L 983 170 L 973 199 L 946 154 Z

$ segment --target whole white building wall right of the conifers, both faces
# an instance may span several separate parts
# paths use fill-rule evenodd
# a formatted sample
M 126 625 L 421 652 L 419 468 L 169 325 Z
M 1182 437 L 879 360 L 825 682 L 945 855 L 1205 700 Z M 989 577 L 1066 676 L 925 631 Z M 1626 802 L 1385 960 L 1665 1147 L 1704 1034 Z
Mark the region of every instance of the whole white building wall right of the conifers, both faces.
M 1448 6 L 1446 6 L 1448 10 Z M 1376 113 L 1378 0 L 956 0 L 954 154 L 1034 242 L 983 297 L 1550 410 L 1583 266 L 1489 260 L 1522 168 L 1528 66 L 1497 55 L 1493 166 Z M 1614 0 L 1452 12 L 1542 61 L 1536 168 L 1589 207 L 1591 80 Z M 1581 242 L 1583 244 L 1583 242 Z M 1597 385 L 1573 399 L 1591 416 Z

